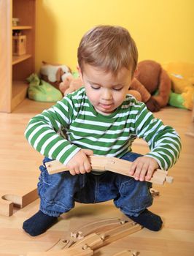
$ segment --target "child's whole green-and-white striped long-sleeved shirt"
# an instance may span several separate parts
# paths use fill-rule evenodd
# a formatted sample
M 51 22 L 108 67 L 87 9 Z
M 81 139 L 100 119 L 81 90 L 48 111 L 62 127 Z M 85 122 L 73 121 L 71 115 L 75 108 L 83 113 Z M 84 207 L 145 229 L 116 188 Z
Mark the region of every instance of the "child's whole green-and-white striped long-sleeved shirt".
M 138 137 L 148 143 L 150 152 L 146 156 L 167 170 L 181 149 L 176 131 L 163 125 L 130 94 L 114 113 L 104 116 L 93 108 L 84 88 L 31 118 L 25 135 L 36 151 L 64 165 L 81 148 L 93 150 L 94 155 L 120 158 L 131 151 Z

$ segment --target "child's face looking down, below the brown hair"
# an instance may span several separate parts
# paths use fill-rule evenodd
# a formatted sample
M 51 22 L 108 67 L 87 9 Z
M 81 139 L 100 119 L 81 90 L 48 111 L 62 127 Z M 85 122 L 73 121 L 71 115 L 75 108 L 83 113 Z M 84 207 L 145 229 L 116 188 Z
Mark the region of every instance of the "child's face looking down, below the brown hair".
M 78 70 L 88 99 L 98 113 L 109 115 L 123 103 L 131 84 L 128 69 L 123 67 L 117 77 L 112 72 L 104 72 L 88 64 L 84 65 L 83 72 L 79 67 Z

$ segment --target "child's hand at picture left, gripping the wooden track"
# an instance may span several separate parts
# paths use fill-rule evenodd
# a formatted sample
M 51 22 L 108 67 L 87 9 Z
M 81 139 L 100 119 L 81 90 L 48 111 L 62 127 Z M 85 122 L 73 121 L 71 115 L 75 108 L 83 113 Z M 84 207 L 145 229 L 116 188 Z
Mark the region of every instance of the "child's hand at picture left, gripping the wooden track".
M 90 161 L 87 156 L 92 156 L 93 151 L 90 149 L 81 149 L 77 152 L 77 154 L 72 157 L 67 163 L 67 167 L 69 167 L 69 172 L 71 175 L 76 175 L 79 173 L 90 173 L 92 169 L 90 165 Z

